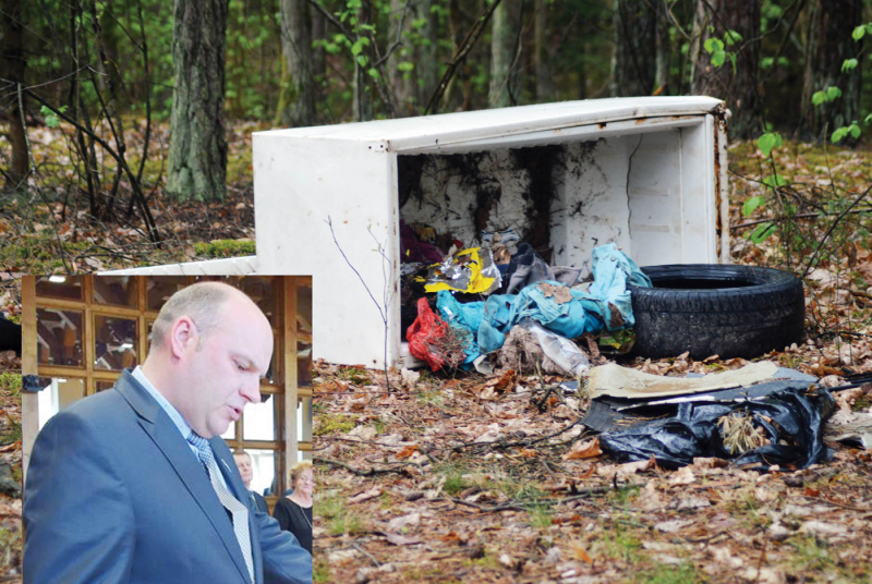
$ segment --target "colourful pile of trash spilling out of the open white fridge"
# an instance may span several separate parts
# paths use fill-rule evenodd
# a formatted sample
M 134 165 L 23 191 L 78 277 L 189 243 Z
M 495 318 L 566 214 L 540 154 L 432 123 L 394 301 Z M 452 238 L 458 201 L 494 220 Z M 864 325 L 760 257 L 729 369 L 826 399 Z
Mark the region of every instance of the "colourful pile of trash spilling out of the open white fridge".
M 438 247 L 410 240 L 411 228 L 401 229 L 405 257 L 436 257 Z M 482 233 L 482 241 L 481 247 L 452 246 L 426 267 L 426 276 L 420 261 L 403 269 L 412 276 L 409 288 L 423 284 L 424 294 L 435 294 L 435 303 L 413 299 L 416 318 L 407 331 L 410 352 L 433 370 L 474 366 L 489 373 L 494 364 L 517 361 L 521 370 L 535 364 L 578 376 L 589 360 L 572 339 L 632 327 L 628 285 L 651 285 L 614 243 L 593 251 L 593 282 L 585 282 L 579 280 L 580 268 L 548 266 L 526 243 L 511 254 L 507 242 L 517 241 L 511 230 Z M 531 346 L 531 339 L 537 346 Z M 509 354 L 501 352 L 504 346 Z

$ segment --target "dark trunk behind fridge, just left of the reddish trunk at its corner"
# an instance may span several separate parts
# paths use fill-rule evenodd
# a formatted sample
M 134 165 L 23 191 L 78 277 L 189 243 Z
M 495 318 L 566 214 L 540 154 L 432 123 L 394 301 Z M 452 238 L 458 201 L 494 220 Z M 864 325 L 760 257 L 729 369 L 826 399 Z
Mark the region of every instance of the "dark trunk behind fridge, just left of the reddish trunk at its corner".
M 651 95 L 655 89 L 657 4 L 647 0 L 617 0 L 615 52 L 609 95 Z

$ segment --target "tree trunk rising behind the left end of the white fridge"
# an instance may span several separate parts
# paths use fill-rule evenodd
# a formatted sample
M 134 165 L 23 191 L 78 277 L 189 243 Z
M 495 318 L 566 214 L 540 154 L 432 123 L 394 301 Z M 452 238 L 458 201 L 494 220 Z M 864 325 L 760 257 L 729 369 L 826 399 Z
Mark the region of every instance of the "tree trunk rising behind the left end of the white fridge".
M 307 0 L 280 0 L 282 66 L 281 95 L 277 114 L 282 125 L 315 124 L 315 78 L 312 63 L 312 32 Z

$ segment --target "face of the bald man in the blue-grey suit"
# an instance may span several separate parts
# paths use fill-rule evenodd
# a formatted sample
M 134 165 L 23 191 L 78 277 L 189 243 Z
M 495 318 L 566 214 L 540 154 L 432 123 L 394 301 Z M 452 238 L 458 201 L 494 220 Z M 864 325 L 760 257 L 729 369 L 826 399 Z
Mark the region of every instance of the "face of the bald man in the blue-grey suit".
M 185 344 L 179 412 L 204 438 L 219 436 L 249 402 L 261 401 L 261 377 L 272 356 L 269 321 L 247 299 L 232 296 L 217 308 L 218 326 Z

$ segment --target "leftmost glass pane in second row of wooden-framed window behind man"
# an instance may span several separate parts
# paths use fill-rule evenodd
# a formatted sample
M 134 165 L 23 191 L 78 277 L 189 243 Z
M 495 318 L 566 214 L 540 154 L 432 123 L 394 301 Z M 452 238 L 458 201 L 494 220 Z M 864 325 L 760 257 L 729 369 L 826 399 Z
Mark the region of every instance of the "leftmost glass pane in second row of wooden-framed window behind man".
M 82 312 L 36 309 L 37 361 L 43 365 L 84 367 Z

